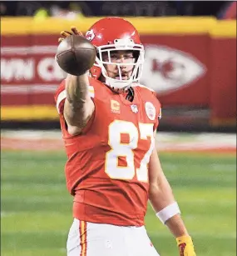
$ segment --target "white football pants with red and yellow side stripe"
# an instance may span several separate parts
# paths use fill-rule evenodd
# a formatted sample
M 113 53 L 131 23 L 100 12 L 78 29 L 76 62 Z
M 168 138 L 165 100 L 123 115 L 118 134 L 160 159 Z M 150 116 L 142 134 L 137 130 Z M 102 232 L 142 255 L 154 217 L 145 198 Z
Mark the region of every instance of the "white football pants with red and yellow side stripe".
M 146 228 L 88 223 L 74 218 L 67 256 L 159 256 Z

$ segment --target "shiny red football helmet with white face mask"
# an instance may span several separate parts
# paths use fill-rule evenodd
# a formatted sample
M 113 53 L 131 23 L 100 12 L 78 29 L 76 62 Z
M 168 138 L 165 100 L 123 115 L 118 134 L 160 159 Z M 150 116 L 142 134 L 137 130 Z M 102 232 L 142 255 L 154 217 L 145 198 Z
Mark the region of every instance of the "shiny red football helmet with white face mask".
M 91 68 L 91 76 L 99 78 L 102 75 L 106 78 L 106 83 L 115 88 L 126 88 L 131 83 L 138 81 L 141 78 L 141 71 L 144 63 L 144 47 L 141 44 L 139 33 L 136 28 L 123 18 L 109 17 L 102 18 L 89 28 L 85 37 L 97 49 L 96 63 Z M 121 78 L 121 63 L 112 63 L 104 61 L 102 53 L 107 53 L 109 60 L 111 51 L 132 50 L 136 51 L 136 62 L 126 63 L 133 66 L 131 77 L 128 80 Z M 119 70 L 120 79 L 108 77 L 104 64 L 116 64 Z

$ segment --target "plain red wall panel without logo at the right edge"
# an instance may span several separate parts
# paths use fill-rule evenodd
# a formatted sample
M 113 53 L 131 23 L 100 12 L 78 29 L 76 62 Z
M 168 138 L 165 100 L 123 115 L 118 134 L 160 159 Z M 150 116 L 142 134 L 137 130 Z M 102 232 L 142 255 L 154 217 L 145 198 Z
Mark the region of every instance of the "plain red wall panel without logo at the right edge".
M 236 38 L 215 38 L 211 48 L 210 122 L 236 125 Z

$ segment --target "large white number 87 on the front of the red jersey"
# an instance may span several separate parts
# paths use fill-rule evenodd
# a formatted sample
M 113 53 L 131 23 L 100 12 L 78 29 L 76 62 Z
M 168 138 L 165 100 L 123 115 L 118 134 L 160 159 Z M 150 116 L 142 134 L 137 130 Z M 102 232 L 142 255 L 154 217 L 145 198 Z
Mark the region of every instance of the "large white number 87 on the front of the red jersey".
M 140 139 L 151 139 L 151 146 L 141 159 L 140 168 L 135 168 L 134 150 L 137 148 Z M 148 168 L 151 152 L 154 148 L 153 124 L 139 123 L 139 131 L 136 125 L 131 122 L 115 120 L 109 126 L 108 144 L 111 150 L 106 153 L 105 171 L 110 178 L 132 179 L 136 178 L 141 182 L 148 182 Z M 121 134 L 129 136 L 128 143 L 121 143 Z M 126 158 L 126 167 L 118 166 L 118 158 Z

